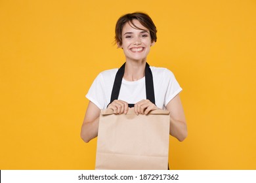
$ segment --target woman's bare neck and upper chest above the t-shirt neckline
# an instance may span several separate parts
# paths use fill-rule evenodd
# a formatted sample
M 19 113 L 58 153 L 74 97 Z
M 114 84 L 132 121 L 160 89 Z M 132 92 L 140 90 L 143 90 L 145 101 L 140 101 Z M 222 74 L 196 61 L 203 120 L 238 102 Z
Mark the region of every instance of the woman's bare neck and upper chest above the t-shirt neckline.
M 146 60 L 126 61 L 123 78 L 128 81 L 136 81 L 145 76 Z

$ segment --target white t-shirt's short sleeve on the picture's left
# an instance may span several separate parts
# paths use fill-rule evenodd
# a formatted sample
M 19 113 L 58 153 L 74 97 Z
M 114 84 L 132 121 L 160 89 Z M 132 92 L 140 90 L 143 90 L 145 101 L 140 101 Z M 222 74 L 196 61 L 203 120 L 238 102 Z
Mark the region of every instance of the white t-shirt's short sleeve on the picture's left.
M 89 101 L 94 103 L 98 108 L 100 109 L 104 108 L 106 95 L 104 93 L 104 81 L 101 73 L 98 76 L 96 76 L 86 97 L 87 99 L 89 99 Z

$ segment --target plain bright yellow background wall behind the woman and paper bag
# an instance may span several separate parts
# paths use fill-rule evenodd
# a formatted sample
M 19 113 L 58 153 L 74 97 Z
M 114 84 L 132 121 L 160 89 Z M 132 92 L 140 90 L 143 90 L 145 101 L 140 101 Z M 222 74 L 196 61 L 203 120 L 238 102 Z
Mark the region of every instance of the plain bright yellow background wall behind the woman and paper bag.
M 181 84 L 188 138 L 171 169 L 256 169 L 256 1 L 0 1 L 0 169 L 94 169 L 85 94 L 119 67 L 122 14 L 150 14 L 148 63 Z

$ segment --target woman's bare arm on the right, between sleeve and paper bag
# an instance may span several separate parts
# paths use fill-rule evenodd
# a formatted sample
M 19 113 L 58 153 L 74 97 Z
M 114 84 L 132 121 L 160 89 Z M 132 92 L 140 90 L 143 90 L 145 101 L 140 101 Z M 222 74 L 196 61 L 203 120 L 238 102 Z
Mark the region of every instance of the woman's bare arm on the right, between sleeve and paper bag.
M 179 141 L 184 141 L 188 135 L 188 131 L 179 94 L 169 101 L 166 109 L 170 111 L 170 135 Z

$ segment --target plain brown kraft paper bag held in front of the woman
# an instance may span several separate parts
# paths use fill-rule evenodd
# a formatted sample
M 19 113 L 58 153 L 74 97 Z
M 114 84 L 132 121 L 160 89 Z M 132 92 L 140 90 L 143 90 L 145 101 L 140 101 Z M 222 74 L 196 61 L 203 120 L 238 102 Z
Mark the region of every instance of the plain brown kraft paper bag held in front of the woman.
M 148 115 L 113 114 L 101 110 L 95 169 L 146 170 L 168 168 L 169 111 Z

